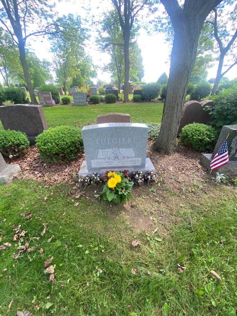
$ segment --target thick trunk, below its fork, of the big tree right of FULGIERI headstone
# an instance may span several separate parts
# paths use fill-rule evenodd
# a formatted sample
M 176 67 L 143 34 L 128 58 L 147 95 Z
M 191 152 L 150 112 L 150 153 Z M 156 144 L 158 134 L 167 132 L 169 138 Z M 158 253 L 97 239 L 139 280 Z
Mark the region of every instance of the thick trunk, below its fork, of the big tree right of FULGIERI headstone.
M 167 85 L 167 95 L 164 104 L 161 130 L 158 139 L 151 146 L 172 155 L 176 148 L 176 138 L 179 123 L 188 89 L 190 75 L 196 60 L 198 38 L 201 27 L 191 23 L 185 25 L 185 17 L 180 18 L 180 27 L 174 32 L 171 53 L 170 73 Z

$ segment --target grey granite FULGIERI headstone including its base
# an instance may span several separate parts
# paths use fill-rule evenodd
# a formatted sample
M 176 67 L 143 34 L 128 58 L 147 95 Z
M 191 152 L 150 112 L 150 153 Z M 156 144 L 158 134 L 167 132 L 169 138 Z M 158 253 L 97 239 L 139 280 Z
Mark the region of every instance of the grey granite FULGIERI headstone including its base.
M 82 137 L 86 161 L 83 161 L 79 175 L 123 169 L 143 173 L 155 171 L 150 159 L 146 158 L 148 127 L 145 124 L 88 125 L 82 128 Z

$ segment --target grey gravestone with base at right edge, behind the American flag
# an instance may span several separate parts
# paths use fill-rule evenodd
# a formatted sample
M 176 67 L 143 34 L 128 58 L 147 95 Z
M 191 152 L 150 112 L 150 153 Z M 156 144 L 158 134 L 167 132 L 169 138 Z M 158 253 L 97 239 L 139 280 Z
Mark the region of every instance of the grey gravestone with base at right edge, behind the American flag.
M 216 146 L 212 154 L 202 154 L 201 164 L 210 171 L 210 162 L 220 149 L 222 143 L 227 138 L 229 163 L 215 172 L 224 174 L 237 174 L 237 125 L 224 125 L 216 142 Z

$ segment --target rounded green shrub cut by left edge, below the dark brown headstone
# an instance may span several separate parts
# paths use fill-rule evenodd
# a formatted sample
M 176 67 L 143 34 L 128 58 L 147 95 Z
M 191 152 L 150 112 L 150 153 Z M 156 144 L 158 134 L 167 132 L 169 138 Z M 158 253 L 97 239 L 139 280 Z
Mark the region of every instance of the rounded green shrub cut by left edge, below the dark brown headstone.
M 18 157 L 25 149 L 29 148 L 30 142 L 25 133 L 14 130 L 0 130 L 0 152 L 4 157 Z

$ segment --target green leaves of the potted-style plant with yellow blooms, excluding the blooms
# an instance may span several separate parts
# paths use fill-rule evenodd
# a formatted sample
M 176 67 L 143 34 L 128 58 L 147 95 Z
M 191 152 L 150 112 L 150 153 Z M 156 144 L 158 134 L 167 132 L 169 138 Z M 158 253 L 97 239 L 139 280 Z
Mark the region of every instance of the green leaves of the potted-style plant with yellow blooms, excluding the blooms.
M 133 182 L 125 178 L 122 172 L 116 173 L 121 177 L 121 182 L 117 183 L 114 189 L 109 188 L 106 182 L 102 190 L 103 199 L 114 204 L 126 203 L 128 198 L 133 200 L 131 194 Z

